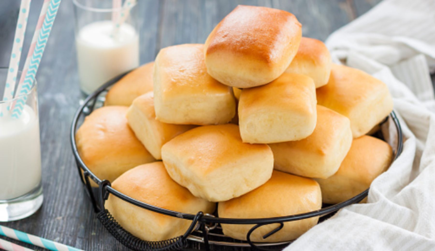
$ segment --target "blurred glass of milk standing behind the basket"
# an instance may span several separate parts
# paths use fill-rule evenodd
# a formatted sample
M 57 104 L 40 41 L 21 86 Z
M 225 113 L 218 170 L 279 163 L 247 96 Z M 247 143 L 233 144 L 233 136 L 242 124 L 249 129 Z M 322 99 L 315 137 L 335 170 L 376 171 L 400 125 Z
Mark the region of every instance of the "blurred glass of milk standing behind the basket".
M 90 94 L 139 66 L 137 0 L 73 0 L 80 89 Z

